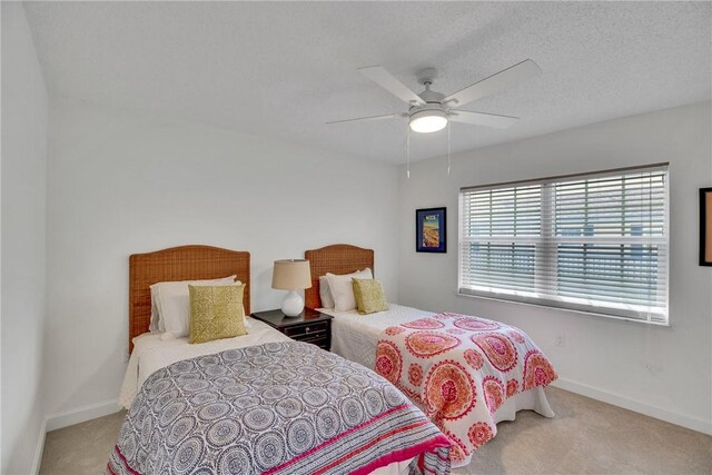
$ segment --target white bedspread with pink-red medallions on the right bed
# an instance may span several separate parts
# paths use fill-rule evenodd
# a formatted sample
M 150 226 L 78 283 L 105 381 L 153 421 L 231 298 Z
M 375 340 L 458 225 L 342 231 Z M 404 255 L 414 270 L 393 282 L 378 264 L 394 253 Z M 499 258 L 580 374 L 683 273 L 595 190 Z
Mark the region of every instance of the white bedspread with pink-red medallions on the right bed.
M 505 399 L 557 377 L 524 331 L 447 313 L 386 328 L 375 369 L 449 438 L 454 463 L 495 436 Z

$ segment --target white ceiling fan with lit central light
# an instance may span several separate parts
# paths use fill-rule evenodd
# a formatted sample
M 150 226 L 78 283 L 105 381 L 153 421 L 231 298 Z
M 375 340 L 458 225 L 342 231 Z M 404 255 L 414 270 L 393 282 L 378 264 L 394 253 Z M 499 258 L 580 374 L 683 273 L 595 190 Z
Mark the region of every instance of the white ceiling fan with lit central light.
M 365 120 L 399 119 L 407 117 L 411 130 L 414 132 L 436 132 L 447 126 L 448 121 L 463 122 L 474 126 L 486 126 L 496 128 L 507 128 L 518 120 L 517 117 L 498 116 L 496 113 L 471 112 L 455 109 L 474 100 L 491 96 L 504 89 L 531 79 L 542 73 L 542 70 L 534 61 L 527 59 L 514 65 L 496 75 L 490 76 L 459 92 L 449 96 L 436 92 L 431 89 L 437 70 L 426 68 L 418 72 L 418 82 L 425 87 L 421 93 L 415 93 L 403 82 L 397 80 L 390 72 L 380 66 L 360 68 L 362 75 L 386 89 L 404 102 L 409 105 L 407 112 L 388 113 L 385 116 L 362 117 L 358 119 L 336 120 L 327 123 L 344 123 Z

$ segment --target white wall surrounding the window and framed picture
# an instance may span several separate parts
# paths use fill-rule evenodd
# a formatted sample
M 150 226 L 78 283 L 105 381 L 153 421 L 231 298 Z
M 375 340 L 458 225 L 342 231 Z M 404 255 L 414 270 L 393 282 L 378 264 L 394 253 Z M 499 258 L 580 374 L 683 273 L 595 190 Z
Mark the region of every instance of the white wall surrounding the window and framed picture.
M 431 159 L 399 174 L 400 304 L 502 320 L 552 358 L 562 387 L 712 432 L 712 268 L 698 266 L 698 189 L 712 186 L 710 102 Z M 477 133 L 458 127 L 454 133 Z M 456 296 L 461 186 L 670 161 L 671 327 Z M 416 254 L 414 210 L 446 206 L 448 251 Z M 557 335 L 565 347 L 556 347 Z M 555 408 L 554 408 L 555 409 Z

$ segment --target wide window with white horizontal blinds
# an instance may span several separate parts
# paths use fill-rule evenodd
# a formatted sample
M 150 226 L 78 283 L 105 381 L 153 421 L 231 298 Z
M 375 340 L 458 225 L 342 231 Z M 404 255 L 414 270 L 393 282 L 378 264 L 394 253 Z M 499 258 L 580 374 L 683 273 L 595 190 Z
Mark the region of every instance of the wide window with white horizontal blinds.
M 458 291 L 668 323 L 668 166 L 462 188 Z

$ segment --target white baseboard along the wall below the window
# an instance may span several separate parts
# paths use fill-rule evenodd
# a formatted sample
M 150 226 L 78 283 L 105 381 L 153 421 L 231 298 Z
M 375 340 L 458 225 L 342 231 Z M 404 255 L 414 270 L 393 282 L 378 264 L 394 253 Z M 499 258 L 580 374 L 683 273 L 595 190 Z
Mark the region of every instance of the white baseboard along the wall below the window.
M 644 414 L 646 416 L 686 427 L 692 431 L 712 435 L 712 422 L 710 420 L 698 419 L 694 417 L 685 416 L 683 414 L 673 413 L 661 407 L 639 403 L 637 400 L 633 400 L 614 393 L 607 393 L 605 390 L 596 389 L 593 386 L 589 386 L 586 384 L 562 377 L 552 383 L 552 386 L 568 390 L 571 393 L 576 393 L 582 396 L 591 397 L 592 399 L 613 404 L 614 406 L 623 407 L 624 409 Z

